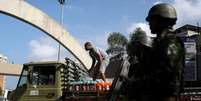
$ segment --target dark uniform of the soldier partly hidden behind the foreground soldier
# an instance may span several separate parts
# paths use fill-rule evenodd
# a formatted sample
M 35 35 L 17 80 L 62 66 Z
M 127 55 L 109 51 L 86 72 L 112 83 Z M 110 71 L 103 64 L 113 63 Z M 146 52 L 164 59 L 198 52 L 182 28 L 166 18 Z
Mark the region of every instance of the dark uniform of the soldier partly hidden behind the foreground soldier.
M 135 58 L 130 59 L 129 68 L 129 80 L 126 85 L 128 91 L 129 100 L 139 100 L 140 95 L 144 93 L 145 79 L 144 76 L 147 74 L 147 67 L 149 66 L 149 53 L 151 47 L 145 46 L 141 43 L 137 43 L 139 46 L 135 54 Z

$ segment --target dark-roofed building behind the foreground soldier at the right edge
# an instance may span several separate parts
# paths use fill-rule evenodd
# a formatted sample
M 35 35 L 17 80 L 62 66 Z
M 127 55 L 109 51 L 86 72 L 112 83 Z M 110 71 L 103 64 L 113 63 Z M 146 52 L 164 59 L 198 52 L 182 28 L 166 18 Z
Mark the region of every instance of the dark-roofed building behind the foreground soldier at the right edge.
M 201 80 L 201 27 L 187 24 L 175 32 L 181 37 L 186 50 L 184 80 Z

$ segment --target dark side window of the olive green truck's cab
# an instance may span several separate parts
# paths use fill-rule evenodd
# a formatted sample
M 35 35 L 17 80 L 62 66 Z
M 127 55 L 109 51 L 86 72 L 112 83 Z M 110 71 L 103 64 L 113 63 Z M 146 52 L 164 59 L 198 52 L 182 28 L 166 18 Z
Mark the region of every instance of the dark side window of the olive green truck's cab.
M 54 85 L 55 66 L 36 66 L 33 68 L 32 85 Z

